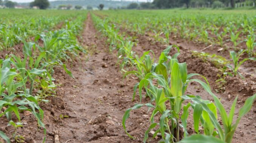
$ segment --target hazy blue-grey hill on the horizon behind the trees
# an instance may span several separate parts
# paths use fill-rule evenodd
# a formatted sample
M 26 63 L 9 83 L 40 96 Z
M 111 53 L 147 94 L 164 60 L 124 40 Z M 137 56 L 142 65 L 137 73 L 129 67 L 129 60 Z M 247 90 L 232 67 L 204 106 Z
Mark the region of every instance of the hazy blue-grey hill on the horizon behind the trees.
M 122 6 L 127 6 L 132 2 L 128 1 L 112 1 L 112 0 L 57 0 L 50 1 L 50 8 L 58 8 L 59 5 L 72 5 L 73 8 L 76 5 L 83 6 L 86 9 L 86 6 L 92 6 L 94 9 L 97 9 L 97 6 L 100 4 L 104 5 L 104 9 L 110 7 L 117 8 Z M 29 6 L 29 3 L 19 3 L 22 6 Z

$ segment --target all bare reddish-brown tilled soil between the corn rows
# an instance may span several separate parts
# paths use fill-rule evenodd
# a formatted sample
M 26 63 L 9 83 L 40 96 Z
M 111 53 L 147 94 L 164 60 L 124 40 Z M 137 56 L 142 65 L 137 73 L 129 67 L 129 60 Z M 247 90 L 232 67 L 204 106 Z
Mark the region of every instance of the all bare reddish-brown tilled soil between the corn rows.
M 72 63 L 72 68 L 69 68 L 76 79 L 68 77 L 62 69 L 56 68 L 54 77 L 57 79 L 57 84 L 61 86 L 57 89 L 55 97 L 48 98 L 49 103 L 41 105 L 45 111 L 46 143 L 54 143 L 55 134 L 59 135 L 62 143 L 141 143 L 144 132 L 150 125 L 148 118 L 151 111 L 147 112 L 148 108 L 143 107 L 132 111 L 130 118 L 126 121 L 128 132 L 136 137 L 136 140 L 130 139 L 122 127 L 125 110 L 139 102 L 137 96 L 135 101 L 132 101 L 133 86 L 138 80 L 133 76 L 123 79 L 119 66 L 116 66 L 116 55 L 108 52 L 106 39 L 97 33 L 89 14 L 85 25 L 80 43 L 88 47 L 89 55 L 82 57 L 81 62 Z M 134 48 L 138 55 L 143 51 L 153 50 L 158 59 L 158 55 L 166 47 L 159 43 L 152 43 L 150 39 L 143 36 L 139 36 L 138 40 L 139 43 Z M 192 57 L 189 48 L 185 46 L 181 48 L 179 58 L 180 62 L 188 63 L 188 73 L 206 76 L 214 90 L 218 73 L 216 68 L 212 68 L 210 63 Z M 239 108 L 243 105 L 245 98 L 255 93 L 255 83 L 252 83 L 255 81 L 244 85 L 244 81 L 239 78 L 230 78 L 228 82 L 224 93 L 216 93 L 222 98 L 222 103 L 227 109 L 230 109 L 235 96 L 239 96 L 237 104 Z M 212 100 L 211 96 L 196 83 L 189 85 L 188 93 Z M 230 98 L 228 98 L 229 95 Z M 142 100 L 143 103 L 149 101 L 148 98 Z M 236 110 L 236 115 L 237 112 L 238 110 Z M 251 111 L 242 118 L 234 135 L 234 143 L 256 141 L 255 112 L 254 105 Z M 42 142 L 43 130 L 37 129 L 37 122 L 33 115 L 22 113 L 21 116 L 22 122 L 26 125 L 22 129 L 19 128 L 17 132 L 23 135 L 28 143 Z M 6 123 L 6 119 L 2 117 L 0 128 L 10 137 L 14 129 L 6 126 Z M 188 118 L 187 128 L 190 133 L 193 133 L 192 116 Z M 148 142 L 156 143 L 159 139 L 160 137 L 149 138 Z

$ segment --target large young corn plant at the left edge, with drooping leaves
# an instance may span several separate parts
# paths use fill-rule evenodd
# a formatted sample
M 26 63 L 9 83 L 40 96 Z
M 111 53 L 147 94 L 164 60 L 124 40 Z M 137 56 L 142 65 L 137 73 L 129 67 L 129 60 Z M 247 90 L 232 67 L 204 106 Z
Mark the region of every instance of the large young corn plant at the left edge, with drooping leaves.
M 20 121 L 19 110 L 31 111 L 32 114 L 37 117 L 39 126 L 44 127 L 42 123 L 43 110 L 39 107 L 37 99 L 27 93 L 17 94 L 19 88 L 24 86 L 24 83 L 23 81 L 15 81 L 14 78 L 21 80 L 23 80 L 23 78 L 19 77 L 19 74 L 15 72 L 15 69 L 11 68 L 10 63 L 10 59 L 0 61 L 0 96 L 2 96 L 2 99 L 0 100 L 0 109 L 7 107 L 6 110 L 0 114 L 0 117 L 5 114 L 10 121 L 12 120 L 12 113 L 14 113 Z M 21 99 L 14 101 L 16 98 Z M 39 110 L 39 113 L 37 113 L 36 110 Z

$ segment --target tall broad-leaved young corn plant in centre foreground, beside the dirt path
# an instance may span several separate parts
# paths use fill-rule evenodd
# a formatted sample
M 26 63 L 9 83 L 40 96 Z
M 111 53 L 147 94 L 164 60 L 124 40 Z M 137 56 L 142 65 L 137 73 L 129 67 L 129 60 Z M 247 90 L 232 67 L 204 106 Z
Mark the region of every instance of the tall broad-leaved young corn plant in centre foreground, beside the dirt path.
M 145 132 L 144 142 L 148 138 L 148 132 L 153 129 L 156 125 L 159 125 L 159 129 L 155 132 L 155 135 L 160 132 L 162 135 L 162 140 L 167 143 L 180 140 L 180 125 L 179 125 L 179 113 L 181 111 L 182 102 L 184 101 L 182 97 L 187 89 L 188 83 L 190 81 L 202 82 L 198 79 L 190 79 L 194 75 L 199 74 L 187 74 L 187 64 L 186 63 L 177 63 L 177 59 L 172 59 L 170 62 L 170 78 L 166 80 L 163 75 L 156 74 L 155 72 L 148 73 L 143 80 L 140 81 L 139 90 L 140 96 L 142 96 L 142 87 L 144 86 L 148 92 L 152 95 L 152 102 L 155 102 L 155 106 L 151 103 L 147 104 L 135 104 L 134 107 L 126 110 L 123 116 L 123 128 L 125 129 L 126 134 L 133 138 L 127 131 L 125 126 L 125 121 L 130 116 L 130 111 L 138 109 L 143 105 L 146 105 L 150 108 L 154 108 L 153 113 L 151 114 L 151 125 L 150 128 Z M 203 76 L 202 76 L 203 77 Z M 206 78 L 203 77 L 205 80 Z M 153 80 L 157 80 L 155 85 Z M 206 80 L 207 81 L 207 80 Z M 208 83 L 208 82 L 207 82 Z M 162 88 L 158 88 L 158 86 Z M 207 84 L 207 86 L 209 86 Z M 166 102 L 170 101 L 170 110 L 167 110 Z M 160 122 L 154 122 L 154 116 L 160 113 Z M 183 118 L 182 118 L 183 119 Z M 169 125 L 170 123 L 170 125 Z

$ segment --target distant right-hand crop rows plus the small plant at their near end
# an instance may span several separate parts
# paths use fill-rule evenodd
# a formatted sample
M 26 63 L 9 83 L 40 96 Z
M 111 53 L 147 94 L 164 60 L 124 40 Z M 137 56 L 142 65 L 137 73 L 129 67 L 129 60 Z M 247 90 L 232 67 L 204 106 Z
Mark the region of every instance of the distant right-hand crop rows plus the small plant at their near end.
M 166 11 L 164 11 L 166 12 Z M 239 72 L 239 67 L 246 62 L 247 60 L 254 60 L 256 61 L 256 53 L 255 53 L 255 46 L 256 46 L 256 35 L 255 35 L 255 18 L 253 15 L 250 14 L 234 14 L 234 15 L 224 15 L 224 14 L 194 14 L 193 11 L 191 11 L 193 15 L 191 14 L 183 14 L 182 12 L 179 12 L 178 14 L 168 14 L 167 17 L 160 17 L 160 14 L 165 14 L 163 12 L 154 12 L 149 14 L 145 14 L 142 12 L 131 12 L 130 15 L 126 15 L 124 13 L 113 13 L 112 11 L 107 12 L 109 20 L 113 21 L 113 23 L 117 24 L 117 27 L 119 29 L 125 29 L 129 31 L 133 31 L 135 33 L 140 33 L 140 30 L 142 30 L 142 33 L 153 33 L 152 37 L 155 39 L 155 41 L 165 42 L 167 45 L 169 45 L 169 36 L 173 35 L 173 32 L 168 32 L 170 30 L 174 29 L 180 29 L 175 34 L 176 36 L 182 35 L 182 31 L 187 31 L 187 34 L 195 34 L 196 36 L 201 37 L 199 33 L 193 33 L 190 30 L 196 28 L 197 30 L 200 29 L 200 27 L 206 28 L 203 31 L 209 31 L 211 29 L 212 32 L 216 35 L 207 36 L 206 41 L 209 39 L 212 40 L 216 38 L 214 41 L 211 41 L 211 44 L 219 44 L 221 42 L 220 46 L 223 47 L 224 42 L 233 42 L 233 47 L 230 49 L 226 48 L 227 50 L 230 50 L 230 62 L 221 63 L 220 71 L 222 71 L 221 76 L 219 77 L 219 80 L 224 80 L 224 78 L 229 76 L 236 76 L 239 75 L 241 78 L 244 79 L 244 76 Z M 129 13 L 129 11 L 128 11 Z M 101 14 L 98 12 L 97 14 Z M 240 16 L 240 17 L 239 17 Z M 127 18 L 128 20 L 123 21 L 123 18 Z M 163 18 L 163 19 L 162 19 Z M 235 19 L 236 18 L 236 19 Z M 221 20 L 219 20 L 221 19 Z M 224 20 L 225 19 L 225 20 Z M 184 22 L 185 21 L 185 22 Z M 138 24 L 139 23 L 139 24 Z M 152 23 L 154 23 L 152 25 Z M 182 23 L 189 23 L 190 26 L 187 25 L 187 27 L 184 27 L 184 30 L 182 29 Z M 233 24 L 233 25 L 232 25 Z M 136 26 L 136 25 L 139 25 Z M 143 27 L 144 28 L 141 28 Z M 237 26 L 238 25 L 238 26 Z M 244 26 L 247 25 L 247 26 Z M 233 29 L 232 27 L 238 27 L 236 29 Z M 219 28 L 218 28 L 219 27 Z M 246 28 L 247 27 L 247 28 Z M 248 29 L 248 27 L 250 27 Z M 224 32 L 222 29 L 226 29 L 226 32 Z M 221 35 L 224 36 L 223 38 L 225 41 L 223 41 L 223 38 L 218 38 L 217 35 L 219 35 L 216 32 L 213 32 L 217 29 L 219 29 L 221 32 Z M 229 30 L 227 30 L 229 29 Z M 156 32 L 157 31 L 157 32 Z M 244 31 L 244 32 L 242 32 Z M 238 32 L 238 33 L 237 33 Z M 228 33 L 231 35 L 228 36 Z M 240 33 L 244 33 L 244 35 L 248 34 L 247 37 L 240 36 Z M 165 35 L 165 36 L 161 36 Z M 243 35 L 243 34 L 241 34 Z M 163 38 L 165 37 L 165 38 Z M 245 39 L 243 39 L 245 38 Z M 185 38 L 186 39 L 186 38 Z M 216 41 L 216 40 L 220 41 Z M 190 39 L 192 40 L 192 39 Z M 198 39 L 197 39 L 198 40 Z M 237 44 L 241 43 L 242 49 L 237 48 Z M 245 48 L 247 47 L 247 48 Z M 223 48 L 222 48 L 223 49 Z M 237 51 L 237 52 L 236 52 Z M 215 53 L 215 52 L 214 52 Z M 205 54 L 205 53 L 202 53 Z M 218 56 L 221 59 L 225 59 L 224 57 Z M 239 62 L 239 58 L 243 57 L 244 59 Z M 216 58 L 216 57 L 215 57 Z M 219 59 L 218 60 L 221 60 Z

